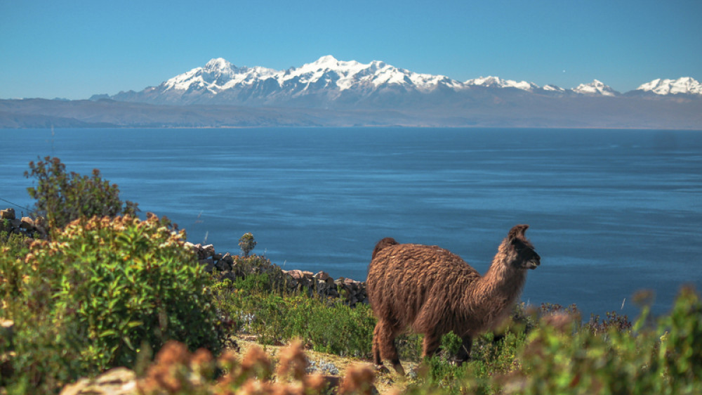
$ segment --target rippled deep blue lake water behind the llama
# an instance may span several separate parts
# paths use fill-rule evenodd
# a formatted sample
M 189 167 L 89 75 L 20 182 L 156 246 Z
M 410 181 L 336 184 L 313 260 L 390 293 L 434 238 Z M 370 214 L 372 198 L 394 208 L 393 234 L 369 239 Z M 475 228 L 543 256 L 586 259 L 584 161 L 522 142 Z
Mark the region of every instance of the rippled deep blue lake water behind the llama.
M 636 316 L 702 290 L 702 131 L 585 129 L 0 130 L 0 199 L 30 160 L 98 168 L 188 240 L 365 280 L 380 238 L 435 244 L 484 273 L 515 224 L 541 254 L 524 302 Z M 0 201 L 1 207 L 10 207 Z M 16 209 L 16 208 L 15 208 Z M 18 209 L 19 210 L 19 209 Z M 624 304 L 623 309 L 621 309 Z

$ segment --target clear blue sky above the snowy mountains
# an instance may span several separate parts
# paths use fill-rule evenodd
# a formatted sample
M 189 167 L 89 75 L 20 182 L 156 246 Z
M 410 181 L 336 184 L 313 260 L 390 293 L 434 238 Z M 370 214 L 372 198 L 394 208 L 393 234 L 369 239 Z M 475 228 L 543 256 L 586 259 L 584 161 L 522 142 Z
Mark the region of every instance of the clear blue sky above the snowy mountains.
M 211 58 L 284 70 L 324 55 L 625 92 L 702 80 L 702 0 L 0 0 L 0 98 L 140 91 Z

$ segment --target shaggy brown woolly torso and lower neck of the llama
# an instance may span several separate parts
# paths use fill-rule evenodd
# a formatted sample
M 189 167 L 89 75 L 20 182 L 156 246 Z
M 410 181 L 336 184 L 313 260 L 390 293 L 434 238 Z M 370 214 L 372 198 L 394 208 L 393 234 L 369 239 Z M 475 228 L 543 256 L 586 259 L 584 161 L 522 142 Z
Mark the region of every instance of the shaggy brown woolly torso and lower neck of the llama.
M 373 259 L 367 287 L 376 316 L 419 333 L 435 328 L 475 336 L 502 318 L 495 312 L 519 295 L 526 279 L 515 276 L 491 289 L 471 287 L 481 277 L 461 257 L 436 245 L 397 244 Z

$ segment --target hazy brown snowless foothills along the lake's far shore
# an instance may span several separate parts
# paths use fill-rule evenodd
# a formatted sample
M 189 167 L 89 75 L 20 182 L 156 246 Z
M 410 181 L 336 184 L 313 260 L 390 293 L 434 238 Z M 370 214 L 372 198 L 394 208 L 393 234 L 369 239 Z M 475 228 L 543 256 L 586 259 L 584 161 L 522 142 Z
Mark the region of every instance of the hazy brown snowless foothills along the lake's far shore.
M 395 96 L 393 108 L 153 105 L 0 100 L 0 128 L 48 127 L 537 127 L 701 129 L 702 100 L 623 96 L 550 97 L 516 89 L 468 97 Z

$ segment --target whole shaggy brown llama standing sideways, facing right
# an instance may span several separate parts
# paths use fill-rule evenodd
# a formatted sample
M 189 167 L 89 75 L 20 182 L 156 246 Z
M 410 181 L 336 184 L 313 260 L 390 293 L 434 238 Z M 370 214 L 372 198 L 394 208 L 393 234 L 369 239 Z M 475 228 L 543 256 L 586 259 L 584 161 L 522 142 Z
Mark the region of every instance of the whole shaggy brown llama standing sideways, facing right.
M 373 362 L 390 360 L 404 375 L 395 337 L 411 328 L 424 334 L 423 356 L 439 350 L 442 335 L 463 339 L 459 363 L 468 360 L 472 339 L 498 325 L 522 292 L 527 269 L 541 257 L 524 236 L 529 225 L 517 225 L 498 247 L 485 276 L 461 257 L 435 245 L 380 240 L 373 250 L 366 290 L 378 318 L 373 330 Z

